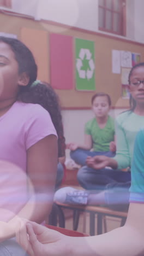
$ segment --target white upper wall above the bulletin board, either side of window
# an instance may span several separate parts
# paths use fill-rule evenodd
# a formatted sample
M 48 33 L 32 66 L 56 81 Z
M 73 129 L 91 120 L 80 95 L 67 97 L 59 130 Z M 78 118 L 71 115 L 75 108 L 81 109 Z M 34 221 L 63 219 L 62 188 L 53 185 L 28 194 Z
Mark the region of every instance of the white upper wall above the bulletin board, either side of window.
M 36 20 L 45 19 L 98 31 L 98 0 L 12 0 L 12 4 L 13 11 L 32 15 Z M 127 38 L 142 43 L 143 9 L 143 0 L 127 0 Z

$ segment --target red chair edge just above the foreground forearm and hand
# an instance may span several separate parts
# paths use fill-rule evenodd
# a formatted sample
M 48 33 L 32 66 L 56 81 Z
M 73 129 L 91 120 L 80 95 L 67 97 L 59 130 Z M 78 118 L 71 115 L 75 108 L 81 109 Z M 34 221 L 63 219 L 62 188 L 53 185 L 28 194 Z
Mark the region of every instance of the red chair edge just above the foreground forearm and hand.
M 62 233 L 63 235 L 66 235 L 66 236 L 75 236 L 75 237 L 89 236 L 87 234 L 77 232 L 77 231 L 74 231 L 74 230 L 59 228 L 59 226 L 51 226 L 51 225 L 47 225 L 47 224 L 45 224 L 45 226 L 49 229 L 56 230 L 56 231 Z

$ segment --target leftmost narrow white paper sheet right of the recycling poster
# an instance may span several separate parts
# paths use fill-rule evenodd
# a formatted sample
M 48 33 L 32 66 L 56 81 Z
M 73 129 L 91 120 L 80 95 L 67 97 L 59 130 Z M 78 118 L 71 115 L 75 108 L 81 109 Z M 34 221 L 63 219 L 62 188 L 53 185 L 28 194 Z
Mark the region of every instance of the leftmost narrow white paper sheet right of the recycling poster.
M 112 73 L 121 74 L 121 51 L 112 50 Z

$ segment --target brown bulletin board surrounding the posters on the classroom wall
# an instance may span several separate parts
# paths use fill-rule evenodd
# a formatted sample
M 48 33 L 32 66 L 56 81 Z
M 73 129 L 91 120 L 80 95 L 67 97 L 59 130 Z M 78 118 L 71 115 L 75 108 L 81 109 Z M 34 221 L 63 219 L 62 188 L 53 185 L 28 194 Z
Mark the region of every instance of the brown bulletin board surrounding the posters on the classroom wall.
M 38 79 L 51 83 L 50 77 L 50 34 L 57 33 L 73 38 L 92 40 L 95 47 L 95 91 L 77 91 L 75 79 L 70 90 L 56 89 L 62 108 L 89 109 L 91 97 L 95 92 L 106 92 L 110 95 L 113 108 L 128 108 L 129 100 L 122 98 L 121 74 L 112 73 L 112 50 L 140 53 L 144 61 L 144 45 L 123 38 L 80 30 L 55 22 L 35 21 L 0 14 L 1 32 L 16 34 L 34 54 L 38 65 Z M 75 63 L 73 63 L 75 66 Z

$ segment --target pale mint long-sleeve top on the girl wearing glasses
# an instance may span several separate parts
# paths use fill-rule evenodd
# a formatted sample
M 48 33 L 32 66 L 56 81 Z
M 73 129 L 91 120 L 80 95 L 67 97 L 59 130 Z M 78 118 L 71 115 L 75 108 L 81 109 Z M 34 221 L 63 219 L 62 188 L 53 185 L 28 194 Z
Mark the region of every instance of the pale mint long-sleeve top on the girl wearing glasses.
M 119 169 L 131 166 L 135 137 L 141 127 L 144 127 L 144 116 L 130 110 L 119 114 L 116 118 L 117 152 L 113 159 L 117 161 Z

